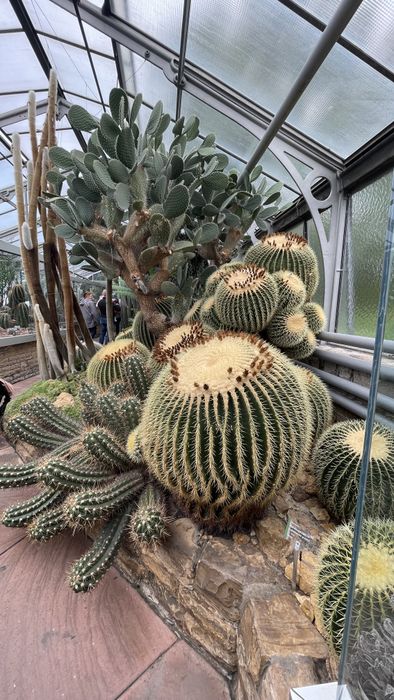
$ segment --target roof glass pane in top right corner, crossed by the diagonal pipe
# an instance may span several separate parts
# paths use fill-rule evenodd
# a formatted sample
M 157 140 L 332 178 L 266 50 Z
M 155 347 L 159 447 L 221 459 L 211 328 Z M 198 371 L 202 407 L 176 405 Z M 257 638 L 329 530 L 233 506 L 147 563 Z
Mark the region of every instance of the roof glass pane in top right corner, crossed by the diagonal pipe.
M 341 0 L 297 0 L 297 4 L 327 23 Z M 394 3 L 392 0 L 363 0 L 343 36 L 380 63 L 394 68 Z

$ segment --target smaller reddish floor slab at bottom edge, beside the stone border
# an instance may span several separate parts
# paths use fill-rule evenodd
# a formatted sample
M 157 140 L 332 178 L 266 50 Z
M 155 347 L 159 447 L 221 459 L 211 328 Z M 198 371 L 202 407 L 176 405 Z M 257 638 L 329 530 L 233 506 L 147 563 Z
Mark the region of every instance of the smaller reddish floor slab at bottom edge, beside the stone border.
M 185 642 L 177 642 L 120 700 L 230 700 L 226 681 Z

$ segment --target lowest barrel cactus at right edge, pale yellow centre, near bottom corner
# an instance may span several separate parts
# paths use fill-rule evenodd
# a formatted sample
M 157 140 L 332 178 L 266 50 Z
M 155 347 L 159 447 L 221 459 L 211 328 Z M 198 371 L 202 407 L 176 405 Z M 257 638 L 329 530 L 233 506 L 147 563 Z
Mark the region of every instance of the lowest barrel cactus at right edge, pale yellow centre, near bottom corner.
M 317 600 L 323 626 L 340 654 L 348 599 L 353 528 L 338 527 L 322 546 L 316 576 Z M 352 608 L 352 638 L 392 617 L 394 595 L 394 521 L 365 520 L 357 564 Z

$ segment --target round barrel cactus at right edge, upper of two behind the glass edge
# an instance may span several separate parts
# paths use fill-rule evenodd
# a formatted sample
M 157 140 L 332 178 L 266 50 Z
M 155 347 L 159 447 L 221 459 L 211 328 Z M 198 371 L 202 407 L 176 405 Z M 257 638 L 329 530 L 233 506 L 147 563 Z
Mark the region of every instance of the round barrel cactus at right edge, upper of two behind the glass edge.
M 335 423 L 321 436 L 313 454 L 319 497 L 337 520 L 354 516 L 365 422 Z M 375 423 L 367 475 L 364 512 L 394 518 L 394 431 Z

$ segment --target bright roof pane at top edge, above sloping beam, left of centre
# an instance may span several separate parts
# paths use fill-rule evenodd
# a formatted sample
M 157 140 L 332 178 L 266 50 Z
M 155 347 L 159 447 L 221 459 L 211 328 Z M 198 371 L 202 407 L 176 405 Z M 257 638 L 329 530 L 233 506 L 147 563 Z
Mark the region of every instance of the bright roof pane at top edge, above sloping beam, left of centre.
M 133 27 L 179 51 L 183 0 L 112 0 L 111 5 L 113 12 Z

